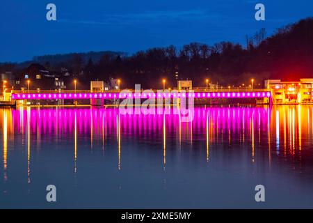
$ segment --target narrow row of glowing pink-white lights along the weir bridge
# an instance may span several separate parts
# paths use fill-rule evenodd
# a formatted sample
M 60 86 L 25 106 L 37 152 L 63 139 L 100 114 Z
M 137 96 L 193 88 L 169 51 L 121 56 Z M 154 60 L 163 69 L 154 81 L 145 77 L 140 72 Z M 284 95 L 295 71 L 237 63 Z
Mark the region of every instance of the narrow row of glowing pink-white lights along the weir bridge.
M 112 98 L 270 98 L 270 92 L 223 93 L 21 93 L 12 99 L 112 99 Z

